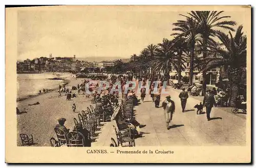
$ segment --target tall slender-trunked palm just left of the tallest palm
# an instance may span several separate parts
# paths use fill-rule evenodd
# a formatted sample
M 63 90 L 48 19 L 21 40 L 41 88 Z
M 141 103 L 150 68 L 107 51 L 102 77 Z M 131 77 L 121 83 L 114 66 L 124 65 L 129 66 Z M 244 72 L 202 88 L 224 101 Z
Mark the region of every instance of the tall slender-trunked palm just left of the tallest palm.
M 177 26 L 173 31 L 179 31 L 179 33 L 173 33 L 171 36 L 184 37 L 188 43 L 188 47 L 190 48 L 189 84 L 192 85 L 194 75 L 194 51 L 196 42 L 199 40 L 198 22 L 193 18 L 186 18 L 186 20 L 178 20 L 173 24 Z

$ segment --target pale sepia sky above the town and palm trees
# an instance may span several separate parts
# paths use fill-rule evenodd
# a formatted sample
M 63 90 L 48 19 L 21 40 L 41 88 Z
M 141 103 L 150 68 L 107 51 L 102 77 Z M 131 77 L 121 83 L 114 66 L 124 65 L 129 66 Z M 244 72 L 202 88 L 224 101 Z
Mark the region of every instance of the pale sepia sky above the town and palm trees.
M 50 53 L 53 57 L 130 58 L 147 45 L 161 43 L 163 38 L 172 39 L 172 23 L 184 19 L 179 14 L 186 11 L 143 6 L 20 10 L 18 60 L 49 57 Z M 246 22 L 243 12 L 224 14 L 238 25 Z

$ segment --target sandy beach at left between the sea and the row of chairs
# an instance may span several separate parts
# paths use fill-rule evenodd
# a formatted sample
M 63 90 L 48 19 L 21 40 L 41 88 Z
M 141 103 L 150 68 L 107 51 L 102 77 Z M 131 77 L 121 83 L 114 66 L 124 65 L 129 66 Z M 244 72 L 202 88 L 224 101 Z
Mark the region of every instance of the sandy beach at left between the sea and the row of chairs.
M 73 77 L 67 87 L 77 86 L 78 83 L 81 84 L 81 80 Z M 36 102 L 40 104 L 28 105 Z M 17 115 L 17 146 L 22 146 L 20 133 L 32 134 L 36 143 L 34 146 L 50 146 L 50 138 L 56 136 L 54 127 L 57 119 L 61 117 L 67 119 L 65 126 L 72 130 L 73 119 L 78 119 L 78 113 L 72 112 L 73 103 L 76 103 L 76 111 L 81 111 L 91 104 L 91 98 L 78 95 L 72 100 L 66 100 L 66 96 L 58 97 L 57 91 L 53 91 L 17 102 L 17 107 L 22 112 Z

